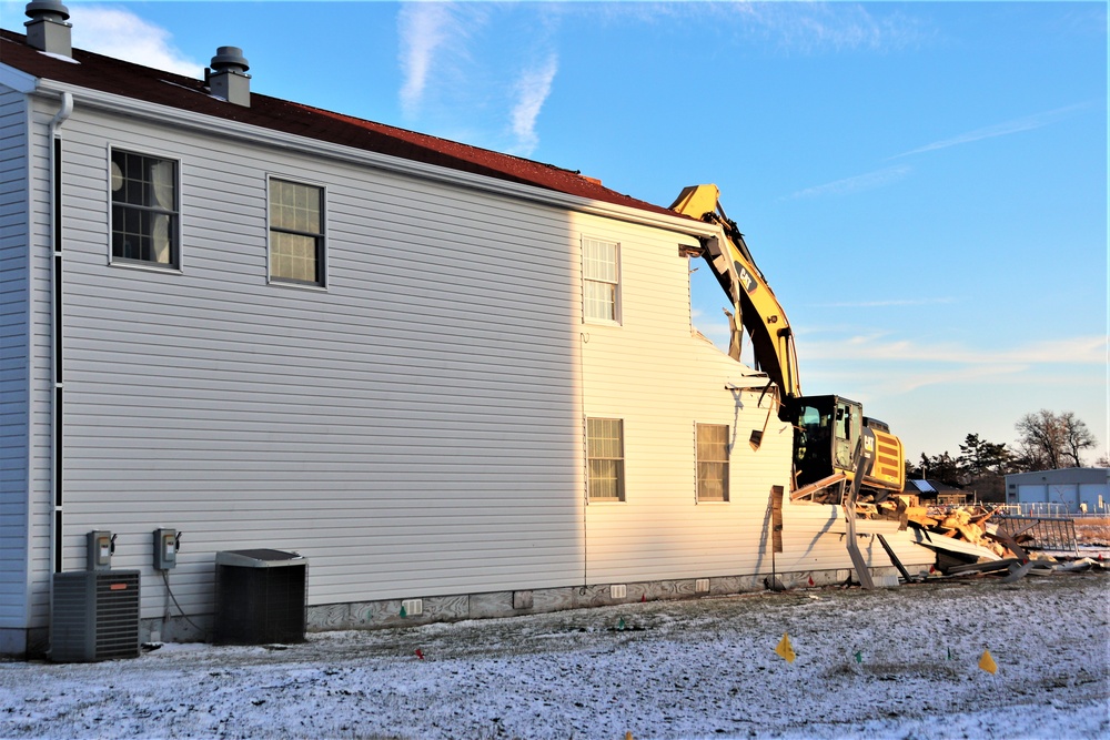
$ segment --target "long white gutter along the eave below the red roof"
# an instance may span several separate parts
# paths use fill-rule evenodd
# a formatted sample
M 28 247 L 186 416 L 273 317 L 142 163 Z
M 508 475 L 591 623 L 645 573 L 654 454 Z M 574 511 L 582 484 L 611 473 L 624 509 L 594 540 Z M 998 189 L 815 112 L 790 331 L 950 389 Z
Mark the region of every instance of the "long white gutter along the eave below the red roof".
M 696 219 L 675 214 L 667 215 L 640 211 L 625 205 L 616 205 L 604 201 L 568 195 L 557 191 L 537 187 L 535 185 L 522 185 L 519 183 L 500 180 L 487 175 L 478 175 L 460 170 L 414 162 L 412 160 L 369 152 L 352 146 L 332 144 L 319 141 L 310 136 L 299 136 L 294 134 L 274 131 L 263 126 L 250 125 L 219 119 L 203 113 L 183 111 L 165 105 L 157 105 L 133 98 L 123 98 L 98 90 L 90 90 L 79 85 L 72 85 L 53 80 L 39 79 L 36 87 L 39 93 L 54 93 L 60 95 L 71 94 L 81 101 L 82 107 L 114 113 L 117 115 L 129 115 L 140 119 L 150 119 L 158 123 L 178 125 L 183 129 L 200 132 L 205 135 L 224 136 L 240 140 L 252 144 L 273 146 L 276 149 L 303 152 L 313 156 L 339 160 L 367 166 L 375 170 L 384 170 L 405 174 L 423 180 L 431 180 L 453 185 L 461 185 L 472 190 L 480 190 L 497 195 L 505 195 L 516 200 L 529 201 L 543 205 L 586 213 L 591 215 L 615 219 L 627 223 L 634 223 L 655 229 L 666 229 L 677 231 L 690 236 L 708 237 L 717 233 L 717 229 L 710 224 L 703 223 Z M 213 130 L 213 121 L 219 122 L 219 130 Z

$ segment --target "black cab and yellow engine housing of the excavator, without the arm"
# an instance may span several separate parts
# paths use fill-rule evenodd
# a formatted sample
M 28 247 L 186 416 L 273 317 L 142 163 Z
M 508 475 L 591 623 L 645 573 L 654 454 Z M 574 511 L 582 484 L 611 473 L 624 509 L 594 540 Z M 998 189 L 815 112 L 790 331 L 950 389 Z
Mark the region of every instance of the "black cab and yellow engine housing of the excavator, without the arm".
M 864 416 L 859 402 L 841 396 L 803 396 L 791 404 L 794 468 L 798 486 L 824 480 L 837 473 L 854 477 L 852 455 L 866 426 L 872 433 L 874 462 L 864 483 L 887 490 L 901 490 L 901 442 L 887 425 Z

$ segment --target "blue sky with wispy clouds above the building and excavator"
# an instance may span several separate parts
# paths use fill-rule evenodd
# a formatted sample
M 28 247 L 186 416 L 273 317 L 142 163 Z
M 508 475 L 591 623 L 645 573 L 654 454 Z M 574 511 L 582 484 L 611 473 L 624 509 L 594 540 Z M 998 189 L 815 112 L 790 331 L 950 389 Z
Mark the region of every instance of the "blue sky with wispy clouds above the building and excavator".
M 22 30 L 26 3 L 0 2 Z M 1107 454 L 1102 2 L 67 2 L 74 45 L 581 170 L 716 183 L 803 388 L 907 454 L 1071 410 Z M 724 342 L 719 288 L 695 323 Z

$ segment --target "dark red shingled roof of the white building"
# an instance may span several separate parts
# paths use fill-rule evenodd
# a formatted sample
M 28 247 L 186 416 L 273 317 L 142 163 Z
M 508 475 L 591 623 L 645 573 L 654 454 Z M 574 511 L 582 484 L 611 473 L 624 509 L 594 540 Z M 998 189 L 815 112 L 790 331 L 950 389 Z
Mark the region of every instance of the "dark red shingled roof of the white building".
M 468 146 L 383 123 L 363 121 L 280 98 L 251 93 L 244 108 L 213 98 L 200 80 L 73 50 L 72 62 L 27 45 L 27 37 L 0 30 L 0 63 L 36 78 L 99 90 L 159 105 L 389 154 L 452 170 L 535 185 L 653 213 L 660 206 L 623 195 L 592 179 L 551 164 Z

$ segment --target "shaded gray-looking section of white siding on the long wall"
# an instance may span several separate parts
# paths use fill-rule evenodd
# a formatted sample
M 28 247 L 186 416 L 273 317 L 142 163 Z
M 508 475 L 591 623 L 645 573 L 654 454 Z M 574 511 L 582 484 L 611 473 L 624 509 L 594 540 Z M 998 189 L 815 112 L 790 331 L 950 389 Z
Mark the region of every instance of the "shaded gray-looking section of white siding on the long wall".
M 67 134 L 67 568 L 103 527 L 150 574 L 169 526 L 190 612 L 223 549 L 302 553 L 310 604 L 581 578 L 564 215 L 80 108 Z M 182 274 L 107 264 L 109 143 L 180 160 Z M 266 284 L 268 174 L 326 187 L 326 292 Z

